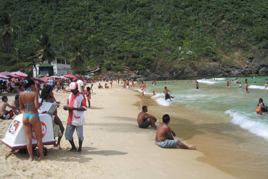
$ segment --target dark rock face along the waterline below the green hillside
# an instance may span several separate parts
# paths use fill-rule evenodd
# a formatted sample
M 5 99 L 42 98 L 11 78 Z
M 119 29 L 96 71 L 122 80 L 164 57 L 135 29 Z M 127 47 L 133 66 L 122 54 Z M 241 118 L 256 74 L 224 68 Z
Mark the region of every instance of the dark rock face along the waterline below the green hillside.
M 236 64 L 233 67 L 224 67 L 216 62 L 206 62 L 204 66 L 182 66 L 172 67 L 168 66 L 163 72 L 155 72 L 154 70 L 142 71 L 125 71 L 125 73 L 108 73 L 114 79 L 128 79 L 137 81 L 151 81 L 151 80 L 182 80 L 182 79 L 200 79 L 200 78 L 224 78 L 224 77 L 239 77 L 239 76 L 266 76 L 268 75 L 268 59 L 267 52 L 259 53 L 256 56 L 248 56 L 247 64 Z M 97 69 L 96 69 L 97 70 Z M 95 71 L 96 71 L 95 70 Z M 175 72 L 175 73 L 174 73 Z

